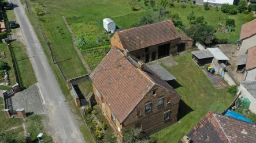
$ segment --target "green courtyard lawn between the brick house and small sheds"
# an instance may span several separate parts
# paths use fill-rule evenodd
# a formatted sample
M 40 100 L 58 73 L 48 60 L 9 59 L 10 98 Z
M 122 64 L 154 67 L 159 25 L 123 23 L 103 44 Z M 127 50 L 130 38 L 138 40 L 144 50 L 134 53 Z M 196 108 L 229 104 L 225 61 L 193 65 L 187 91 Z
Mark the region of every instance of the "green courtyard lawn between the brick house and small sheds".
M 202 69 L 192 60 L 191 53 L 177 57 L 175 61 L 179 64 L 173 67 L 165 67 L 164 64 L 162 66 L 173 74 L 181 85 L 176 91 L 183 95 L 185 103 L 180 103 L 179 118 L 185 116 L 180 119 L 180 123 L 177 122 L 154 134 L 158 142 L 178 142 L 206 113 L 221 113 L 235 99 L 235 96 L 228 94 L 227 89 L 216 90 L 213 87 Z

